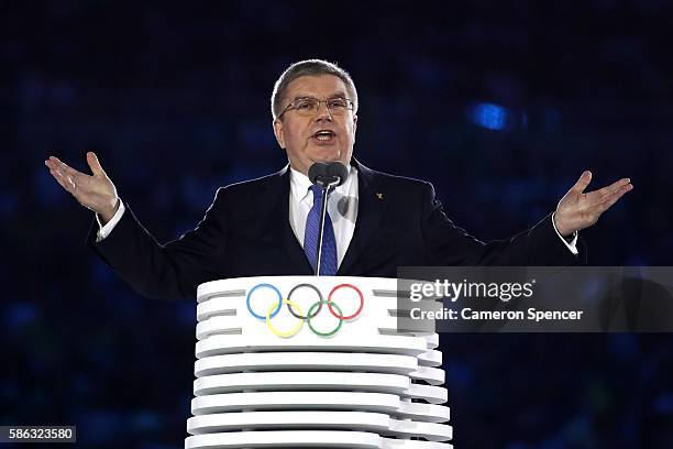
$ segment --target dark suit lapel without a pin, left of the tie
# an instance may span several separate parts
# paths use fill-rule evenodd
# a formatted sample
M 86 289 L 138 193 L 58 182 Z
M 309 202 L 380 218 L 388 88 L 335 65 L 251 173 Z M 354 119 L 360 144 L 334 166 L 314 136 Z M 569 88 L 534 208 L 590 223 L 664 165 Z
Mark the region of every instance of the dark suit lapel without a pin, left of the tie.
M 299 274 L 312 274 L 313 270 L 306 256 L 304 249 L 299 244 L 295 232 L 289 223 L 289 165 L 278 172 L 278 182 L 274 183 L 272 189 L 277 193 L 274 197 L 274 212 L 272 217 L 279 220 L 276 223 L 269 223 L 276 230 L 276 239 L 280 242 L 289 263 L 294 265 Z M 284 270 L 287 271 L 287 270 Z

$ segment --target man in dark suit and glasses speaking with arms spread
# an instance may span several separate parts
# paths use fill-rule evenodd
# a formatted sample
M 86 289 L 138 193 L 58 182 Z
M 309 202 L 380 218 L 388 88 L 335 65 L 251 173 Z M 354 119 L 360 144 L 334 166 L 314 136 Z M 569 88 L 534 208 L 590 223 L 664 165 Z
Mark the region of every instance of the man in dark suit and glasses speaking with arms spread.
M 152 297 L 194 297 L 200 283 L 218 278 L 311 274 L 321 202 L 307 177 L 315 162 L 341 161 L 349 168 L 328 199 L 322 274 L 395 277 L 398 266 L 409 265 L 581 263 L 577 231 L 632 188 L 625 178 L 584 194 L 592 176 L 584 172 L 553 213 L 510 239 L 484 243 L 451 222 L 429 183 L 376 172 L 352 157 L 357 91 L 345 70 L 320 59 L 291 65 L 274 87 L 272 114 L 288 166 L 220 188 L 198 227 L 167 244 L 157 243 L 118 197 L 93 153 L 87 154 L 92 176 L 56 157 L 45 164 L 97 213 L 89 244 Z

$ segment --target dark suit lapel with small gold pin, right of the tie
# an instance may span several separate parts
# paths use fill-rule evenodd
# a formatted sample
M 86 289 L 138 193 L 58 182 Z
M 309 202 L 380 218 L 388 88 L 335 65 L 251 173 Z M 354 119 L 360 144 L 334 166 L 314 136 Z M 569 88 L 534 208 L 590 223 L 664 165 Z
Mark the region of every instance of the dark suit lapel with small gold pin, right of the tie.
M 366 249 L 369 240 L 380 223 L 385 207 L 385 196 L 377 190 L 373 171 L 355 158 L 351 161 L 357 168 L 357 220 L 351 244 L 339 266 L 338 275 L 345 275 L 353 267 Z

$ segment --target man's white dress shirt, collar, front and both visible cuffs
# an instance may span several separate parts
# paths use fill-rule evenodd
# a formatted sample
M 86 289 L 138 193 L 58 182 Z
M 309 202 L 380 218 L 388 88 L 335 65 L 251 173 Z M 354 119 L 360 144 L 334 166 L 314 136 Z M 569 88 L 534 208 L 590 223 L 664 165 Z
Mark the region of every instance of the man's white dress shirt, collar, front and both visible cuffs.
M 306 231 L 306 218 L 308 217 L 309 210 L 313 206 L 313 195 L 309 190 L 311 182 L 309 178 L 294 168 L 290 168 L 290 195 L 289 195 L 289 221 L 290 228 L 295 232 L 299 244 L 304 248 L 304 233 Z M 341 266 L 343 256 L 345 255 L 353 232 L 355 231 L 355 221 L 357 219 L 357 168 L 350 165 L 349 177 L 345 183 L 336 187 L 328 198 L 328 212 L 332 220 L 332 227 L 334 228 L 334 238 L 336 241 L 336 266 Z M 98 233 L 96 234 L 96 242 L 100 242 L 107 238 L 110 232 L 114 229 L 119 220 L 124 215 L 125 207 L 123 201 L 119 201 L 119 209 L 104 226 L 101 225 L 100 218 L 96 215 L 98 220 Z M 571 241 L 569 242 L 563 236 L 559 233 L 556 223 L 554 223 L 554 216 L 552 215 L 552 226 L 559 239 L 565 244 L 565 247 L 575 255 L 577 251 L 577 232 L 573 233 Z

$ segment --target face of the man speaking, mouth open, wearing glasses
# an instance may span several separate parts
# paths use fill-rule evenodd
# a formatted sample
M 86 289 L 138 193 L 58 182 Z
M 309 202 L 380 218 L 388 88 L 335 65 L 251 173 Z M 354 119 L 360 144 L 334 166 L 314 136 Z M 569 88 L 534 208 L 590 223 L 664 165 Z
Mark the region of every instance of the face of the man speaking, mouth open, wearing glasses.
M 288 85 L 283 108 L 305 97 L 319 100 L 336 97 L 350 99 L 345 84 L 336 76 L 302 76 Z M 351 162 L 356 124 L 357 116 L 353 111 L 332 114 L 322 102 L 318 111 L 310 116 L 302 116 L 290 108 L 280 119 L 274 120 L 274 133 L 278 144 L 287 152 L 290 166 L 308 174 L 315 162 Z M 331 131 L 331 136 L 319 139 L 316 134 L 320 131 Z

